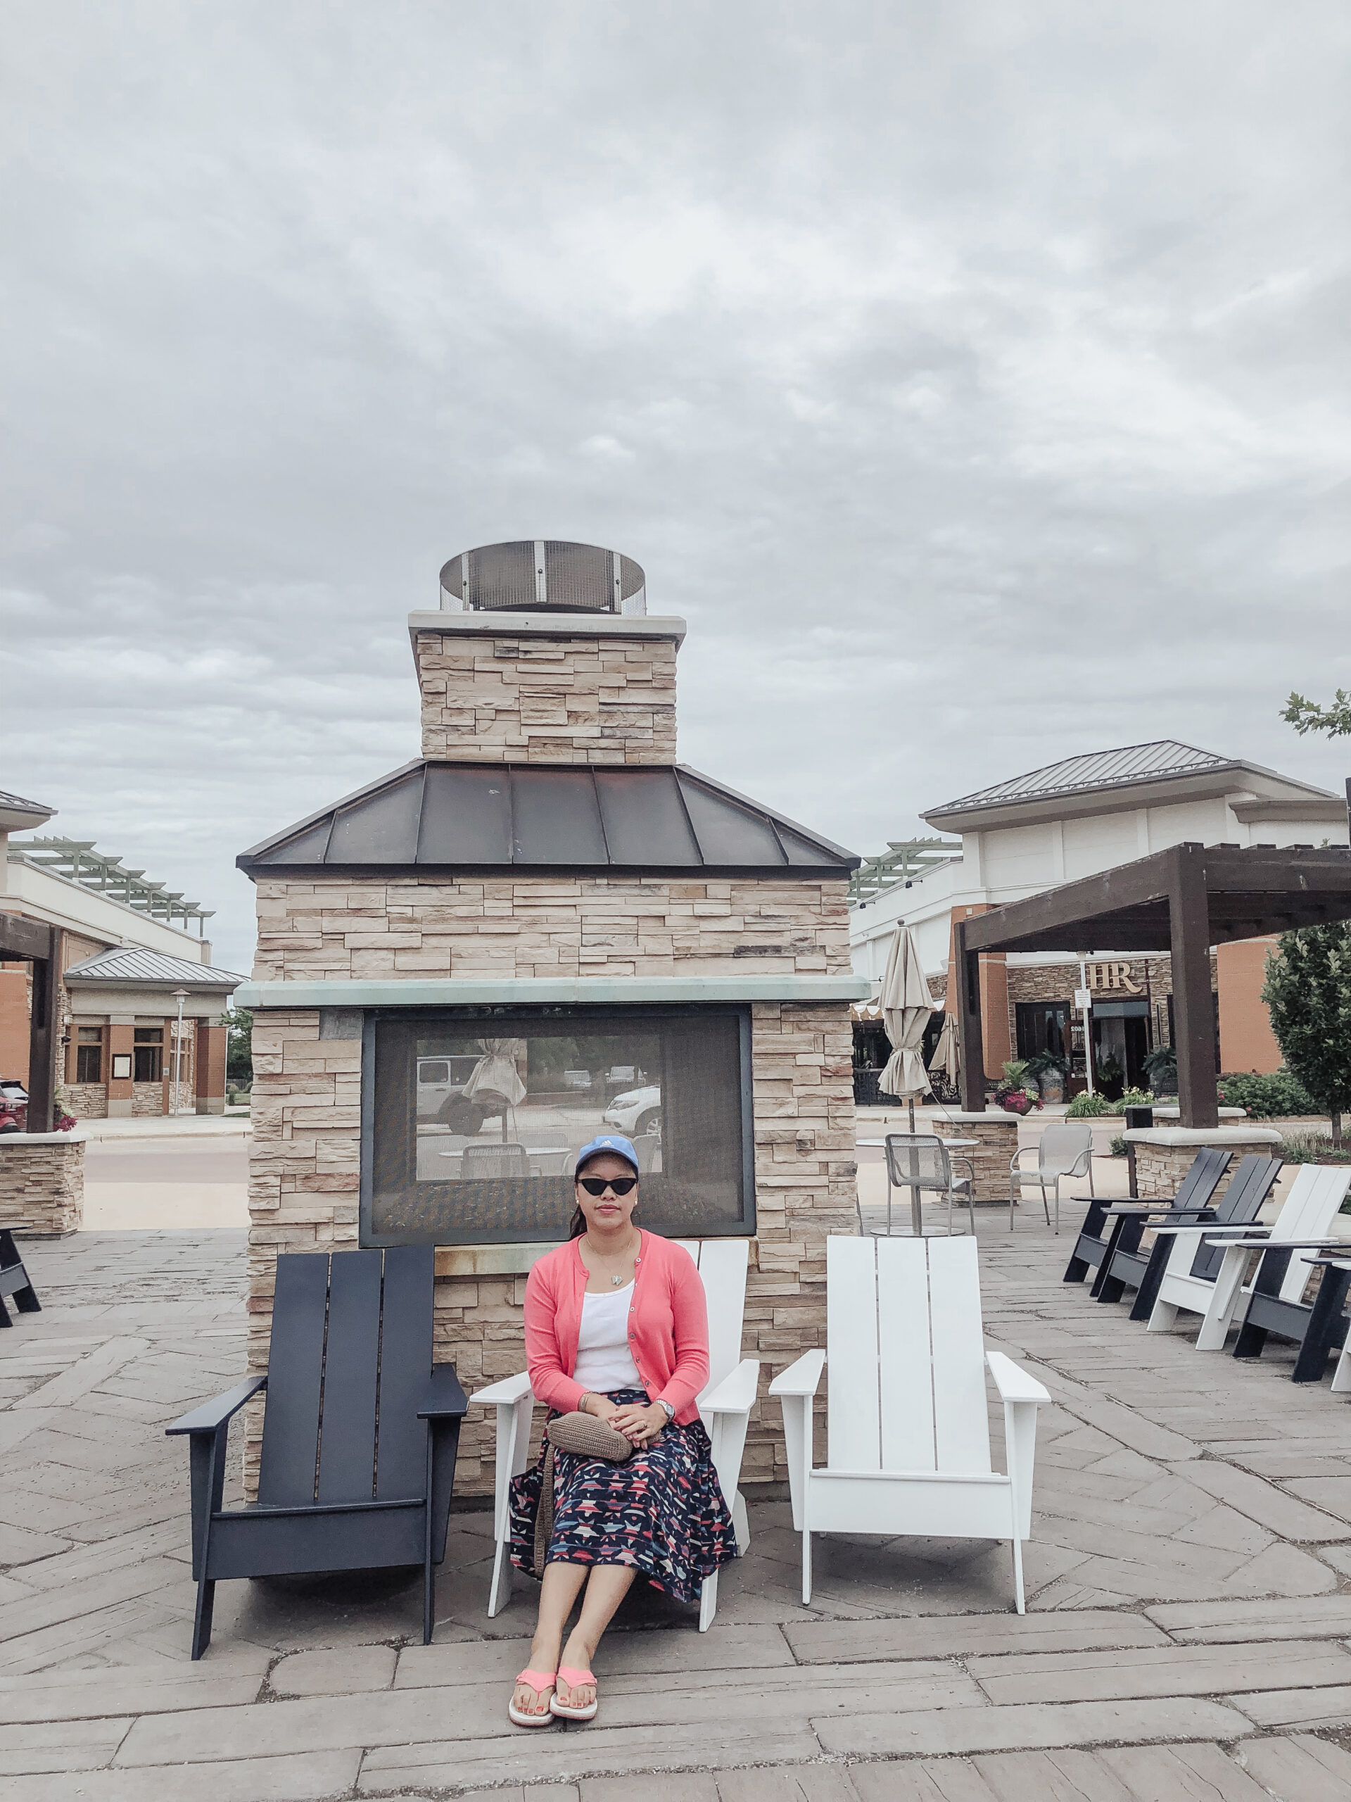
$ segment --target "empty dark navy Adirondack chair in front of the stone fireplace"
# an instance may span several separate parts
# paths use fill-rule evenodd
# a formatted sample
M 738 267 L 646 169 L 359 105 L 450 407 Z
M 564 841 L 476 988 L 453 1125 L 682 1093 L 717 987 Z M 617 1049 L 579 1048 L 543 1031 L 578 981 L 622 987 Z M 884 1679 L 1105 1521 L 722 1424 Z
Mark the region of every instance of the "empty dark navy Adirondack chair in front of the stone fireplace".
M 283 1252 L 263 1377 L 193 1409 L 193 1658 L 211 1643 L 229 1577 L 422 1564 L 422 1642 L 432 1566 L 445 1557 L 459 1422 L 450 1364 L 432 1368 L 431 1245 Z M 231 1416 L 267 1388 L 258 1501 L 222 1508 Z

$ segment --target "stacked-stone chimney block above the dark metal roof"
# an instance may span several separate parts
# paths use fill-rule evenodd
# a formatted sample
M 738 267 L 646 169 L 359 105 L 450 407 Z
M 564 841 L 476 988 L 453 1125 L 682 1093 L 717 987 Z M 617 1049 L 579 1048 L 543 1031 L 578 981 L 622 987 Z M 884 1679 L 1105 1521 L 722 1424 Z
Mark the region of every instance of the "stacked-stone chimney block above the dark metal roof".
M 422 755 L 467 762 L 676 762 L 676 636 L 414 631 Z

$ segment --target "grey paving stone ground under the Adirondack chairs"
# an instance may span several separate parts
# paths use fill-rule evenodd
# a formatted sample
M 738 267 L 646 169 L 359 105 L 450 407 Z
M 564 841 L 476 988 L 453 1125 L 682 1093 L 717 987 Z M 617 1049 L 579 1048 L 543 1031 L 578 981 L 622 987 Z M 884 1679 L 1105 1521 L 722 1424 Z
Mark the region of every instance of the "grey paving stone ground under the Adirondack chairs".
M 1351 1797 L 1351 1404 L 1293 1388 L 1281 1348 L 1201 1355 L 1063 1285 L 1079 1211 L 1059 1240 L 980 1213 L 991 1344 L 1054 1397 L 1029 1615 L 1005 1546 L 850 1537 L 818 1541 L 803 1607 L 762 1501 L 713 1629 L 636 1595 L 600 1721 L 569 1732 L 506 1723 L 533 1586 L 485 1618 L 479 1512 L 452 1517 L 431 1647 L 398 1573 L 222 1584 L 193 1665 L 162 1429 L 241 1373 L 243 1234 L 27 1245 L 43 1314 L 0 1333 L 0 1802 L 620 1802 L 645 1773 L 665 1802 Z

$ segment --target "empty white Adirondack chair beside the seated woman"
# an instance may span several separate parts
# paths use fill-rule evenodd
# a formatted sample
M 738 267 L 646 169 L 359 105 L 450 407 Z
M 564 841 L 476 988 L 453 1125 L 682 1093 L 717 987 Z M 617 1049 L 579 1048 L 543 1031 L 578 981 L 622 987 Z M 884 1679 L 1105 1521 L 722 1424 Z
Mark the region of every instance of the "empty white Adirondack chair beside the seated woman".
M 1038 1402 L 1050 1397 L 985 1352 L 976 1240 L 825 1242 L 825 1352 L 807 1352 L 769 1393 L 784 1406 L 802 1600 L 812 1534 L 1009 1539 L 1023 1606 L 1032 1532 Z M 827 1463 L 812 1467 L 812 1400 L 830 1368 Z M 1007 1476 L 991 1470 L 985 1366 L 1003 1400 Z

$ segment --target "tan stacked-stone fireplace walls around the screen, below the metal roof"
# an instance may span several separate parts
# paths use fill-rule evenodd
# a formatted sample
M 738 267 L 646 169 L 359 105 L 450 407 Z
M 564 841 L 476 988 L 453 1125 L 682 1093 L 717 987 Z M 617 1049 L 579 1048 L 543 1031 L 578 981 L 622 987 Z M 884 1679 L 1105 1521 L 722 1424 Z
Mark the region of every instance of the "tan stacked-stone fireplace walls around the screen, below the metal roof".
M 843 883 L 476 879 L 259 883 L 256 975 L 672 977 L 848 973 Z M 751 1009 L 757 1234 L 744 1355 L 760 1357 L 746 1483 L 784 1481 L 784 1442 L 764 1384 L 825 1344 L 825 1238 L 856 1231 L 852 1033 L 843 1002 Z M 250 1150 L 250 1368 L 267 1366 L 279 1251 L 358 1242 L 360 1042 L 319 1036 L 319 1011 L 254 1016 Z M 467 1389 L 524 1368 L 524 1276 L 440 1276 L 438 1355 Z M 256 1467 L 261 1415 L 249 1422 Z M 492 1492 L 492 1424 L 474 1409 L 458 1494 Z

